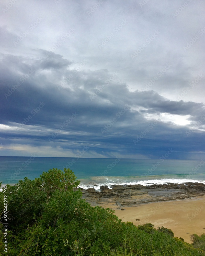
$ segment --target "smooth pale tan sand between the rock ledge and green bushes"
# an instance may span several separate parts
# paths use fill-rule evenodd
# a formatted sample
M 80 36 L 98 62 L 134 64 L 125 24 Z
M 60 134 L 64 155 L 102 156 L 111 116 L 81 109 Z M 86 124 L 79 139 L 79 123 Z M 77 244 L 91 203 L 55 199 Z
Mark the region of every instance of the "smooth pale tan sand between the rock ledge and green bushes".
M 158 226 L 169 228 L 175 237 L 182 237 L 188 243 L 191 243 L 191 234 L 201 236 L 205 233 L 205 196 L 120 207 L 124 210 L 113 204 L 103 204 L 102 207 L 115 210 L 115 215 L 122 221 L 133 222 L 136 226 L 150 222 L 156 229 Z

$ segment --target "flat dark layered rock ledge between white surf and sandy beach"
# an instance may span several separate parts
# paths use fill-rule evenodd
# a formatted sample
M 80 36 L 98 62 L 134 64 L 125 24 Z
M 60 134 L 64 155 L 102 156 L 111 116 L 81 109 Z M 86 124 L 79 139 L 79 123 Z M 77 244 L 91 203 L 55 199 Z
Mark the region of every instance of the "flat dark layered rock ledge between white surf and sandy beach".
M 81 191 L 83 198 L 92 206 L 111 203 L 119 207 L 127 207 L 142 203 L 203 196 L 205 195 L 205 184 L 113 185 L 111 188 L 101 186 L 100 191 L 96 191 L 94 188 L 81 189 Z

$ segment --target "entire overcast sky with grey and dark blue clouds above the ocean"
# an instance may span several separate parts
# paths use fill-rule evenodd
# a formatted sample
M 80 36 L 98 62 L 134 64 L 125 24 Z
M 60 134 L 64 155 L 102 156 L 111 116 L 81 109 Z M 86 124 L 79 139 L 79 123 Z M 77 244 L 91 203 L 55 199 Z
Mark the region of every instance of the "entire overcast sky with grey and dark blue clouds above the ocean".
M 1 156 L 204 158 L 204 1 L 0 6 Z

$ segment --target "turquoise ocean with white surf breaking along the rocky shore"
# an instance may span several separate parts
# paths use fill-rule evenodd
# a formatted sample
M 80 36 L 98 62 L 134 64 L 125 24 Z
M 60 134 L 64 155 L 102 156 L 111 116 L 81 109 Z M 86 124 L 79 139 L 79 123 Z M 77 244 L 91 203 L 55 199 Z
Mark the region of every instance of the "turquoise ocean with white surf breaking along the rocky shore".
M 113 184 L 205 184 L 205 161 L 170 159 L 65 158 L 0 156 L 0 182 L 16 184 L 34 179 L 49 169 L 70 168 L 81 181 L 80 187 L 100 189 Z

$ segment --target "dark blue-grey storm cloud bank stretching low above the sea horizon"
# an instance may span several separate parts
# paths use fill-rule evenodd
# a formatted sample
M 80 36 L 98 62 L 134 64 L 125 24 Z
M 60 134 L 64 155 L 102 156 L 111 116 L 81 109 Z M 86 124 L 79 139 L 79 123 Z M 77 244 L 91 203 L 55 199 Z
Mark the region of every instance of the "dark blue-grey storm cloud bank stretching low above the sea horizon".
M 1 120 L 2 124 L 14 128 L 2 131 L 2 136 L 7 138 L 6 144 L 21 141 L 33 146 L 56 148 L 59 145 L 73 152 L 86 144 L 97 153 L 106 150 L 104 156 L 107 157 L 118 150 L 131 155 L 149 151 L 147 157 L 157 157 L 169 145 L 175 151 L 197 150 L 193 146 L 196 138 L 195 143 L 185 143 L 188 140 L 185 127 L 160 119 L 148 120 L 143 113 L 191 115 L 194 118 L 204 113 L 202 103 L 170 101 L 154 91 L 132 92 L 115 78 L 109 82 L 113 75 L 107 70 L 77 71 L 70 68 L 71 64 L 56 54 L 36 60 L 4 56 L 2 69 L 10 70 L 10 80 L 7 76 L 2 78 L 7 83 L 2 82 L 1 86 Z M 28 70 L 32 73 L 26 76 Z M 21 83 L 12 92 L 17 81 Z M 135 107 L 146 110 L 138 111 Z M 146 129 L 149 132 L 145 132 Z M 136 141 L 145 133 L 146 136 Z M 176 154 L 172 156 L 177 157 Z

